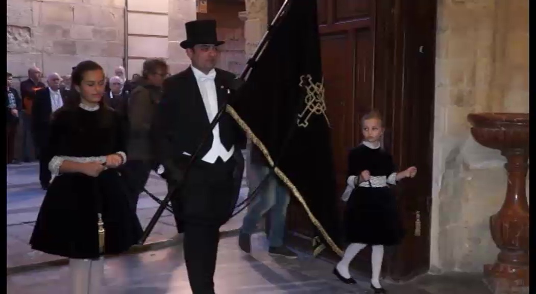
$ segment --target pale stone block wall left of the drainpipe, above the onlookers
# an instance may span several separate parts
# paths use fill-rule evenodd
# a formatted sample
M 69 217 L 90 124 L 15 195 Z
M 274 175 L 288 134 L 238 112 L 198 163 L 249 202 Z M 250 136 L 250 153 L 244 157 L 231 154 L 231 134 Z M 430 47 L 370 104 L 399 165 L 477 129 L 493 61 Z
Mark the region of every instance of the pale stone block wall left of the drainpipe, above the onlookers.
M 36 65 L 45 75 L 63 75 L 78 62 L 93 59 L 113 72 L 113 67 L 123 65 L 124 3 L 8 0 L 8 71 L 25 79 L 28 67 Z

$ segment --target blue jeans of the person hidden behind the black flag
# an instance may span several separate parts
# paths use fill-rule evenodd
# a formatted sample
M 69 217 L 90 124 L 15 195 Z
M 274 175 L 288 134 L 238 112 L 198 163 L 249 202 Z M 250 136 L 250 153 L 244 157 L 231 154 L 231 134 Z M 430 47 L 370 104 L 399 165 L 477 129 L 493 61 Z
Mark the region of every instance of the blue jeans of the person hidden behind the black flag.
M 248 165 L 248 169 L 249 190 L 253 191 L 268 174 L 269 169 L 255 164 Z M 275 177 L 277 176 L 271 175 L 257 189 L 257 195 L 251 202 L 240 230 L 241 233 L 251 235 L 263 215 L 270 210 L 270 233 L 268 236 L 270 247 L 283 245 L 287 206 L 291 200 L 287 187 Z

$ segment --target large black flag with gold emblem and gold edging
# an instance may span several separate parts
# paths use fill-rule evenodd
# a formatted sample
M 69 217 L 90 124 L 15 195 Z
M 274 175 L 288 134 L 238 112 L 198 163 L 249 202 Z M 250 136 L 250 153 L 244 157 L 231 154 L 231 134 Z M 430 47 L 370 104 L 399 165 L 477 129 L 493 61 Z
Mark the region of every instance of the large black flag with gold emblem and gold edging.
M 316 227 L 315 243 L 341 255 L 316 1 L 284 5 L 226 111 L 301 203 Z

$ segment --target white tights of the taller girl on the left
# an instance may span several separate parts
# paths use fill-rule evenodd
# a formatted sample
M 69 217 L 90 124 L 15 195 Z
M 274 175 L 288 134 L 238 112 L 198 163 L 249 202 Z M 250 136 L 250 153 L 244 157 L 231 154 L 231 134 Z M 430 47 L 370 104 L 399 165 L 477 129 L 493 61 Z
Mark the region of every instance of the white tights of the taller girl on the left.
M 103 294 L 104 259 L 69 259 L 71 294 Z

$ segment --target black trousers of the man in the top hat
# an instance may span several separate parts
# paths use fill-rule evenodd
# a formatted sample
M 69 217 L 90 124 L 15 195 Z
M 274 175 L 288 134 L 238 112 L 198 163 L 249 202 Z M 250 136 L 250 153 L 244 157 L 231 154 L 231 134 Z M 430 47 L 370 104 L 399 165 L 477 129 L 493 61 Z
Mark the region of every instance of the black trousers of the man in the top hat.
M 172 201 L 178 230 L 184 232 L 184 260 L 193 294 L 214 294 L 219 229 L 233 213 L 238 194 L 236 162 L 195 164 L 181 194 Z M 170 187 L 173 189 L 173 187 Z

